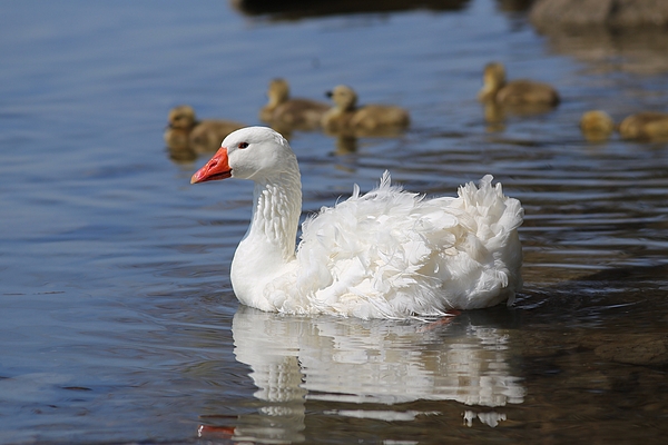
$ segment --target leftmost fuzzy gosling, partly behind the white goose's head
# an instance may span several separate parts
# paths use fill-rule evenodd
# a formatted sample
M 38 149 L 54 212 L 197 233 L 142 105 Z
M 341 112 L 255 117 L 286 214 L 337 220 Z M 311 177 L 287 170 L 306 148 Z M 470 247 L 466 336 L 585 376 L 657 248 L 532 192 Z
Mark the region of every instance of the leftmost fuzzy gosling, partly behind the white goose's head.
M 243 123 L 232 120 L 197 120 L 193 107 L 181 105 L 169 111 L 164 137 L 170 149 L 212 152 L 220 147 L 227 135 L 243 127 Z

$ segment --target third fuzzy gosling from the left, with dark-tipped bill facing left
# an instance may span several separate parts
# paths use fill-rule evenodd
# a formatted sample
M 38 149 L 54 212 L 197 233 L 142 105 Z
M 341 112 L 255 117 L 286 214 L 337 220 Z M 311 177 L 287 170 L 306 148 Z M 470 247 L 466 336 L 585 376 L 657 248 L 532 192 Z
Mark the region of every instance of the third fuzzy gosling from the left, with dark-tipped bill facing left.
M 323 128 L 331 134 L 373 136 L 402 130 L 411 121 L 409 112 L 392 105 L 365 105 L 357 107 L 357 95 L 344 85 L 327 92 L 332 107 L 322 119 Z

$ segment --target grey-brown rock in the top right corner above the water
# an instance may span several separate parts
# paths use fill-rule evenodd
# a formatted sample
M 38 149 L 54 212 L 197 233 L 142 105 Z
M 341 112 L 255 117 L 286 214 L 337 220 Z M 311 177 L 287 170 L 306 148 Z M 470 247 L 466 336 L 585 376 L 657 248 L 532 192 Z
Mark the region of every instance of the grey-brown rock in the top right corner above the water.
M 665 0 L 538 0 L 530 20 L 539 30 L 549 28 L 612 29 L 667 27 L 668 2 Z

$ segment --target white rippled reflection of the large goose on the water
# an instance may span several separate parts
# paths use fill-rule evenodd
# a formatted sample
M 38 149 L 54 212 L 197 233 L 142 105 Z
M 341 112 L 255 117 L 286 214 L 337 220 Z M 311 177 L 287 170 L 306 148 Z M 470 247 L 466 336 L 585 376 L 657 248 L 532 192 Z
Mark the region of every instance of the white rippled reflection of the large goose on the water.
M 465 423 L 479 417 L 494 426 L 505 414 L 489 407 L 522 403 L 524 388 L 508 363 L 511 330 L 484 322 L 468 314 L 448 325 L 288 317 L 240 307 L 233 320 L 235 355 L 253 369 L 262 407 L 240 416 L 235 438 L 303 439 L 308 400 L 355 404 L 324 414 L 385 422 L 440 413 L 363 404 L 454 400 L 488 407 L 466 409 Z

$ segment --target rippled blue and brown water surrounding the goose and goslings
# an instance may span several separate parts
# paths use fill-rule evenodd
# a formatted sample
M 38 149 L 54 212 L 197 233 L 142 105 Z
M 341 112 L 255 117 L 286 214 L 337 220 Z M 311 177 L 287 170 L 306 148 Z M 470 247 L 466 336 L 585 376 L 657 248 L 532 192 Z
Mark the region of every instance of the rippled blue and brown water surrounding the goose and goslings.
M 501 2 L 450 3 L 302 18 L 6 3 L 0 443 L 660 443 L 668 146 L 590 144 L 577 121 L 665 110 L 665 52 L 537 36 Z M 492 59 L 563 103 L 485 122 L 474 97 Z M 354 151 L 293 135 L 305 211 L 385 169 L 442 195 L 492 172 L 520 198 L 515 306 L 436 325 L 239 307 L 228 273 L 250 187 L 190 186 L 205 159 L 170 160 L 161 132 L 181 102 L 257 123 L 277 76 L 295 96 L 348 83 L 413 117 Z

